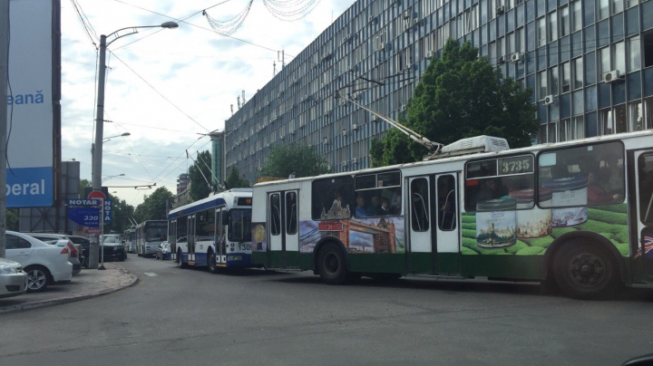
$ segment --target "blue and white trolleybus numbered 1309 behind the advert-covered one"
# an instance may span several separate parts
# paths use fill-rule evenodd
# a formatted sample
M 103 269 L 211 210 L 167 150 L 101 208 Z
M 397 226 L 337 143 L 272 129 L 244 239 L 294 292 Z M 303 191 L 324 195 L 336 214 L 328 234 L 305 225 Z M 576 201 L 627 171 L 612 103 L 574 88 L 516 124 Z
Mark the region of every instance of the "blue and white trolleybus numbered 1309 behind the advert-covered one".
M 171 259 L 180 267 L 251 266 L 251 188 L 233 188 L 168 214 Z

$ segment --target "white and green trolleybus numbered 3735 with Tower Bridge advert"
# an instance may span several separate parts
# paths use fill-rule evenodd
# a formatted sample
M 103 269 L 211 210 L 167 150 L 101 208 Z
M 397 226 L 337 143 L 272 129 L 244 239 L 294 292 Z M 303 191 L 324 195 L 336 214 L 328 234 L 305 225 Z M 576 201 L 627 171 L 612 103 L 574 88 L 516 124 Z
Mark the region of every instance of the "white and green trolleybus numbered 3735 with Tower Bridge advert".
M 509 149 L 487 136 L 434 159 L 259 183 L 255 264 L 361 275 L 557 284 L 578 298 L 653 285 L 653 131 Z

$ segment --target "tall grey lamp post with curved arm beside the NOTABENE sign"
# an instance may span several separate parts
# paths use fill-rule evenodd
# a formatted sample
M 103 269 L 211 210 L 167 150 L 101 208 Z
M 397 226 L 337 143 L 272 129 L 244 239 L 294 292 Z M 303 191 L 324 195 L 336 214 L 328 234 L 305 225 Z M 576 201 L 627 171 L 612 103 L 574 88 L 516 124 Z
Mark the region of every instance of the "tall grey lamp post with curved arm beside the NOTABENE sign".
M 95 144 L 93 146 L 93 191 L 100 191 L 102 189 L 102 142 L 104 138 L 104 74 L 106 73 L 106 48 L 113 41 L 131 34 L 137 34 L 139 28 L 177 28 L 179 24 L 174 22 L 165 22 L 161 25 L 140 25 L 119 29 L 109 35 L 100 35 L 100 66 L 98 70 L 98 91 L 97 91 L 97 112 L 95 115 Z M 129 30 L 127 33 L 120 34 L 124 30 Z M 107 38 L 112 39 L 107 42 Z M 123 134 L 124 135 L 124 134 Z M 102 240 L 102 230 L 104 229 L 103 220 L 103 202 L 100 212 L 100 236 L 98 241 Z M 98 265 L 98 243 L 92 243 L 89 250 L 89 266 L 97 268 Z

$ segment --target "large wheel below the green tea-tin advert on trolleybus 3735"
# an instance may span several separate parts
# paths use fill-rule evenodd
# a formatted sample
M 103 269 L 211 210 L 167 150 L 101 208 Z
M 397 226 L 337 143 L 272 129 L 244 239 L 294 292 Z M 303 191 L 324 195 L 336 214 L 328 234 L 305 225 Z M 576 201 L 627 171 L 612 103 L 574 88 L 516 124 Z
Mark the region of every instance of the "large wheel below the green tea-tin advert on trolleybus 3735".
M 553 277 L 560 290 L 575 299 L 607 298 L 619 288 L 617 261 L 599 245 L 574 242 L 553 258 Z

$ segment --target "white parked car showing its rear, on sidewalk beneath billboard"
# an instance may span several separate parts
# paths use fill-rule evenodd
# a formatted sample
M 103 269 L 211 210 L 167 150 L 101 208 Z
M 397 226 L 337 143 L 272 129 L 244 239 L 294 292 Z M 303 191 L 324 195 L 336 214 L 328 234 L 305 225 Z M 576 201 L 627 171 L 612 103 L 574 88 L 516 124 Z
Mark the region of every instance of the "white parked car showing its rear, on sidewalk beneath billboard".
M 6 259 L 23 265 L 30 293 L 44 291 L 49 284 L 71 282 L 69 250 L 68 246 L 51 246 L 32 236 L 6 231 Z

